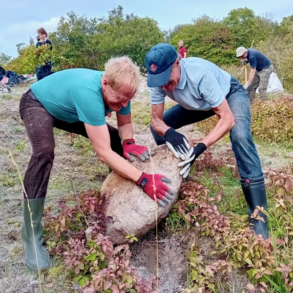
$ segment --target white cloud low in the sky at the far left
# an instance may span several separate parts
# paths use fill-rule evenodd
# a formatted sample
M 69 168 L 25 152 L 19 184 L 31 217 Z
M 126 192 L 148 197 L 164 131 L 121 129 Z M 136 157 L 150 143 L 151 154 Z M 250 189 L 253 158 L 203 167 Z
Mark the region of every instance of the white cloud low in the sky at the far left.
M 8 27 L 1 27 L 0 31 L 0 52 L 17 56 L 16 44 L 28 43 L 29 36 L 32 36 L 36 41 L 37 29 L 44 27 L 47 32 L 53 31 L 60 17 L 52 17 L 47 21 L 25 21 L 24 23 L 13 23 Z

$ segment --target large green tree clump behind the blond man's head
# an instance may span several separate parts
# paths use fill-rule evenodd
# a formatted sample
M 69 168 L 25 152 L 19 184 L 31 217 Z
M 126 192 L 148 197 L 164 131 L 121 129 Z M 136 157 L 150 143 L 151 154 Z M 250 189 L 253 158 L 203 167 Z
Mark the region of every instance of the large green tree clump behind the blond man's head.
M 62 17 L 50 39 L 60 56 L 61 68 L 86 67 L 104 70 L 112 56 L 129 56 L 143 70 L 147 51 L 164 41 L 157 21 L 123 13 L 118 6 L 107 18 L 87 19 L 70 12 Z M 53 49 L 54 50 L 54 49 Z

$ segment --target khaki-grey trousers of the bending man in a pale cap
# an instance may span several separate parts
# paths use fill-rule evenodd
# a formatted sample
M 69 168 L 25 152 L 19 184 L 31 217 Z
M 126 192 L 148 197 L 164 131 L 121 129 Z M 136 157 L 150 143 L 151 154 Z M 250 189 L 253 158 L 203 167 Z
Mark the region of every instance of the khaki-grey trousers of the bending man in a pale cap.
M 272 73 L 272 66 L 261 71 L 255 71 L 254 78 L 251 82 L 251 85 L 247 88 L 250 102 L 255 99 L 255 92 L 258 88 L 260 98 L 267 100 L 267 88 L 269 85 L 270 75 Z

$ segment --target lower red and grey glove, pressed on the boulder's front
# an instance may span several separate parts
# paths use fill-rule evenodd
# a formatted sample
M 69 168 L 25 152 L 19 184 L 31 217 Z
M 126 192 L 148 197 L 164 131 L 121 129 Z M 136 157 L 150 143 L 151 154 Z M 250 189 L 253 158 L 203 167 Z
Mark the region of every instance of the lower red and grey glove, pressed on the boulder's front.
M 146 194 L 153 200 L 157 198 L 157 203 L 161 207 L 170 204 L 170 199 L 174 198 L 174 193 L 163 182 L 171 183 L 171 180 L 160 174 L 146 174 L 143 172 L 137 180 L 136 185 L 143 188 Z

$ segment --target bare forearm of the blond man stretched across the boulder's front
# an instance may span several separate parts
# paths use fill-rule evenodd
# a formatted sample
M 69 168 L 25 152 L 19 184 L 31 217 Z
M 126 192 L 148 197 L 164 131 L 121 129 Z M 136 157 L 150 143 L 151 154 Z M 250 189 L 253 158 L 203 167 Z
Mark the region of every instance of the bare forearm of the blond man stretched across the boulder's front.
M 103 163 L 108 165 L 115 172 L 121 176 L 126 177 L 130 180 L 137 181 L 142 175 L 142 171 L 129 164 L 124 158 L 119 156 L 117 153 L 108 149 L 107 151 L 100 154 L 100 159 Z

